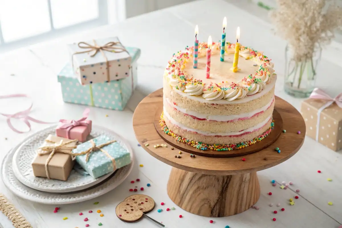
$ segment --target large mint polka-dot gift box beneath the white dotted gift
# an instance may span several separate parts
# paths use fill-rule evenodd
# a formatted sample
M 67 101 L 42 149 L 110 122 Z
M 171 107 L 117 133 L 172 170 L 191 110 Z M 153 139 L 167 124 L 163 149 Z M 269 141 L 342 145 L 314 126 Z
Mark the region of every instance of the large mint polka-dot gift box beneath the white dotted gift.
M 64 102 L 123 110 L 137 84 L 137 59 L 140 49 L 126 48 L 132 57 L 128 77 L 110 82 L 81 85 L 67 64 L 58 74 Z

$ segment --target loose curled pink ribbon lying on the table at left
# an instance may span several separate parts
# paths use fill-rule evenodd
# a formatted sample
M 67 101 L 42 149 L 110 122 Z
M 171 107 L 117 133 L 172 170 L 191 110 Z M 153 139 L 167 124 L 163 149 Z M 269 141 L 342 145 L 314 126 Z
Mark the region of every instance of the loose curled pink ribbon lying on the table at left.
M 10 95 L 0 96 L 0 99 L 3 99 L 3 98 L 13 98 L 13 97 L 28 97 L 28 96 L 26 94 L 10 94 Z M 44 123 L 44 124 L 45 123 L 51 123 L 51 122 L 43 122 L 43 121 L 40 121 L 40 120 L 37 120 L 37 119 L 34 119 L 34 118 L 28 116 L 28 114 L 31 111 L 32 106 L 33 106 L 33 103 L 31 103 L 30 107 L 28 109 L 24 110 L 24 111 L 19 111 L 19 112 L 14 113 L 14 114 L 0 113 L 0 115 L 7 117 L 6 121 L 7 121 L 8 126 L 10 127 L 10 129 L 12 129 L 12 131 L 14 131 L 16 133 L 26 133 L 26 132 L 31 131 L 31 124 L 30 124 L 29 120 L 32 121 L 32 122 L 35 122 L 35 123 Z M 28 126 L 29 130 L 28 131 L 19 131 L 19 130 L 17 130 L 12 125 L 11 119 L 22 120 Z

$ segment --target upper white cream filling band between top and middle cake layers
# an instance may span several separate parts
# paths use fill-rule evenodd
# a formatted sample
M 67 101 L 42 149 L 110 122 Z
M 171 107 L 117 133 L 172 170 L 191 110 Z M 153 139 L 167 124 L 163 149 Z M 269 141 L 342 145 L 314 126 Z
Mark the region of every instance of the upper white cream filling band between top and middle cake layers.
M 171 107 L 177 109 L 180 112 L 197 117 L 199 119 L 215 120 L 215 121 L 230 121 L 230 120 L 239 119 L 239 118 L 251 118 L 252 116 L 254 116 L 255 114 L 259 112 L 266 111 L 268 107 L 272 105 L 273 100 L 274 100 L 274 97 L 271 99 L 271 101 L 267 105 L 263 106 L 262 108 L 255 109 L 252 112 L 241 113 L 239 115 L 230 115 L 230 116 L 222 116 L 222 115 L 209 116 L 209 115 L 205 115 L 205 114 L 198 113 L 195 111 L 189 111 L 189 110 L 186 110 L 185 108 L 174 105 L 172 102 L 170 102 L 169 98 L 166 98 L 165 96 L 163 96 L 164 103 L 168 103 Z

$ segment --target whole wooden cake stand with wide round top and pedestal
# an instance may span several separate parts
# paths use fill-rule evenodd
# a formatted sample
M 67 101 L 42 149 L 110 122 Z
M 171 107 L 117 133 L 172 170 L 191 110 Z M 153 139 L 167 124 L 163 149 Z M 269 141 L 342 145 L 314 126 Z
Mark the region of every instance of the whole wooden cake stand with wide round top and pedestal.
M 186 152 L 190 149 L 188 145 L 176 142 L 170 135 L 161 137 L 158 133 L 155 122 L 159 122 L 162 106 L 162 89 L 140 102 L 133 115 L 135 136 L 150 155 L 173 166 L 167 185 L 168 195 L 175 204 L 193 214 L 223 217 L 246 211 L 260 197 L 257 171 L 291 158 L 304 142 L 305 122 L 302 116 L 292 105 L 276 97 L 273 113 L 275 126 L 268 137 L 240 150 L 215 151 L 215 154 L 240 153 L 245 161 L 238 154 L 235 157 L 212 157 L 209 150 L 209 155 L 202 153 L 201 156 L 190 157 Z M 156 116 L 159 119 L 156 120 Z M 277 124 L 282 124 L 286 133 L 278 134 Z M 298 134 L 298 131 L 301 133 Z M 147 143 L 149 146 L 145 146 Z M 154 145 L 166 143 L 168 147 L 154 148 Z M 176 148 L 171 150 L 170 144 Z M 275 151 L 276 147 L 279 147 L 280 153 Z M 183 148 L 181 155 L 177 148 Z M 253 152 L 246 153 L 251 150 Z M 175 155 L 181 158 L 175 158 Z

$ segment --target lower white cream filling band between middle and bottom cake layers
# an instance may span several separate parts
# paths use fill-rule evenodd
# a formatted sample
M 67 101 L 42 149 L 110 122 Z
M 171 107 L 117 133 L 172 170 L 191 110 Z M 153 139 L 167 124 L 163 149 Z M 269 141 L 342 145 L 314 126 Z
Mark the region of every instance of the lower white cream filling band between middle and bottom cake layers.
M 178 126 L 179 128 L 181 129 L 184 129 L 186 131 L 191 131 L 191 132 L 197 132 L 198 134 L 202 134 L 202 135 L 207 135 L 207 136 L 215 136 L 215 135 L 219 135 L 219 136 L 234 136 L 234 135 L 240 135 L 240 134 L 244 134 L 246 132 L 253 132 L 255 130 L 258 130 L 259 128 L 261 128 L 262 126 L 264 126 L 271 118 L 272 118 L 272 114 L 267 117 L 264 121 L 262 121 L 261 123 L 258 123 L 257 125 L 251 127 L 251 128 L 248 128 L 246 130 L 243 130 L 243 131 L 238 131 L 238 132 L 225 132 L 225 133 L 213 133 L 213 132 L 208 132 L 208 131 L 200 131 L 200 130 L 196 130 L 196 129 L 193 129 L 193 128 L 189 128 L 187 126 L 184 126 L 183 124 L 181 123 L 178 123 L 177 121 L 175 121 L 170 115 L 169 113 L 166 111 L 165 109 L 165 106 L 163 107 L 164 109 L 164 115 L 168 118 L 168 120 Z

